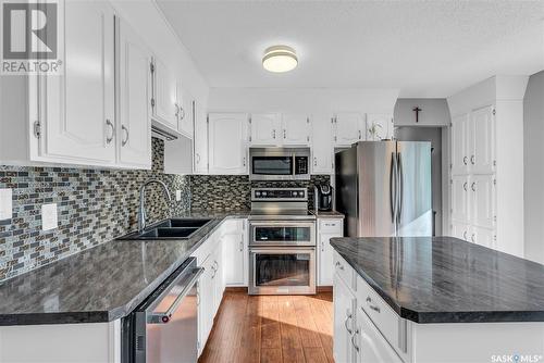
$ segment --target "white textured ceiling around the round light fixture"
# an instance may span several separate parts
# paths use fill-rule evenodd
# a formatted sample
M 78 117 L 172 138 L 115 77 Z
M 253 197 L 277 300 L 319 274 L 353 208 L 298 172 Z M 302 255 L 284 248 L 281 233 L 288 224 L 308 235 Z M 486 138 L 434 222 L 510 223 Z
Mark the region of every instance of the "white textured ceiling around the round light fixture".
M 447 97 L 544 70 L 544 1 L 157 0 L 211 87 L 399 88 Z M 299 66 L 271 74 L 269 46 Z

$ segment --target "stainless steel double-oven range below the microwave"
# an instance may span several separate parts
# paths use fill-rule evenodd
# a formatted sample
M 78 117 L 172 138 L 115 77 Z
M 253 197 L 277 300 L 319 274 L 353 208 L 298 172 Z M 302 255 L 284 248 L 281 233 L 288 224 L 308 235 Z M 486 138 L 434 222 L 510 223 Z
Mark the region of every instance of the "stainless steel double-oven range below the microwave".
M 251 189 L 249 293 L 316 293 L 316 216 L 306 188 Z

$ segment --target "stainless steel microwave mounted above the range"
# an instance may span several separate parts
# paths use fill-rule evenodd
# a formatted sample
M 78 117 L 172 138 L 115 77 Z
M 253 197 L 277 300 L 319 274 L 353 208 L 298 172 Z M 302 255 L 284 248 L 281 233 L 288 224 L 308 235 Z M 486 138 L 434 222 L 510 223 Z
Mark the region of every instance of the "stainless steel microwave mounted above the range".
M 251 180 L 309 180 L 310 148 L 249 148 Z

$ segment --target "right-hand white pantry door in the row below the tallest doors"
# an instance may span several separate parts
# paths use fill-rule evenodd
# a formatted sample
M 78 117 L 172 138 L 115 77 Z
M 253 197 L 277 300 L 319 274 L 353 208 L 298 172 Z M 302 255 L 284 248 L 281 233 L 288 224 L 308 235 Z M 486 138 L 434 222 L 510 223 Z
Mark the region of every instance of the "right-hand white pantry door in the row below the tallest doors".
M 495 225 L 495 176 L 473 175 L 470 182 L 472 224 L 493 228 Z

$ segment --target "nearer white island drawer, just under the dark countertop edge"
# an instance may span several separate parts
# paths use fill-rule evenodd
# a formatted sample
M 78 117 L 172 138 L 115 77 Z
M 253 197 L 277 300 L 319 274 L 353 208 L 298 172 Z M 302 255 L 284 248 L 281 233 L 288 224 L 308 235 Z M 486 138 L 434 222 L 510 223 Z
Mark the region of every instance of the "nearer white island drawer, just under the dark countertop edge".
M 362 277 L 357 276 L 357 309 L 363 311 L 390 345 L 403 355 L 407 351 L 406 320 L 387 305 Z

